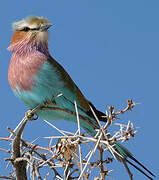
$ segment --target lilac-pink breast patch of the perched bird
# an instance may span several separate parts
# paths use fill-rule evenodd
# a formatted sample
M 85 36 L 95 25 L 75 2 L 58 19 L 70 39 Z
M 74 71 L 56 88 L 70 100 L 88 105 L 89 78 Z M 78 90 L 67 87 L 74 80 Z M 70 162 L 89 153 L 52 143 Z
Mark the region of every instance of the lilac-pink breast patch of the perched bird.
M 41 52 L 30 52 L 29 55 L 12 54 L 8 70 L 8 81 L 12 89 L 30 90 L 35 82 L 32 77 L 38 74 L 40 67 L 47 61 L 47 56 Z

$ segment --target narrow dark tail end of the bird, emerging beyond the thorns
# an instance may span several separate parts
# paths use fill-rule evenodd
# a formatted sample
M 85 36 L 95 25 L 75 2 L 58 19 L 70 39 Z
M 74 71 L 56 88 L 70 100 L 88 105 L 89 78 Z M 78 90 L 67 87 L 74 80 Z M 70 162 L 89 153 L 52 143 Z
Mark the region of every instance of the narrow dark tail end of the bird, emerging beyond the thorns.
M 134 158 L 134 156 L 130 153 L 130 151 L 125 148 L 124 146 L 122 146 L 120 143 L 115 142 L 115 148 L 116 151 L 123 157 L 120 157 L 118 154 L 115 155 L 115 157 L 119 160 L 119 161 L 125 161 L 127 163 L 129 163 L 131 166 L 133 166 L 135 169 L 137 169 L 138 171 L 140 171 L 142 174 L 144 174 L 147 178 L 153 180 L 151 176 L 155 177 L 155 175 L 148 170 L 143 164 L 141 164 L 137 159 Z M 144 170 L 142 170 L 140 167 L 138 167 L 137 165 L 135 165 L 134 163 L 132 163 L 131 161 L 128 160 L 128 158 L 130 158 L 131 160 L 133 160 L 135 163 L 137 163 L 140 167 L 142 167 L 147 173 L 149 173 L 150 175 L 148 175 L 146 172 L 144 172 Z

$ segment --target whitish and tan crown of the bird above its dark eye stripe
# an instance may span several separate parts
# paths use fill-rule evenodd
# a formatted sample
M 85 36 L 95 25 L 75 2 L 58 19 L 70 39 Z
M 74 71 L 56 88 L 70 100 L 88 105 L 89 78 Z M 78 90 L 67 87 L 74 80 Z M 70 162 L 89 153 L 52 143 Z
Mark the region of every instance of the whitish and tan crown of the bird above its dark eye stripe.
M 13 31 L 22 30 L 24 27 L 29 27 L 30 29 L 37 28 L 43 23 L 48 23 L 48 20 L 44 17 L 30 16 L 21 21 L 13 23 Z

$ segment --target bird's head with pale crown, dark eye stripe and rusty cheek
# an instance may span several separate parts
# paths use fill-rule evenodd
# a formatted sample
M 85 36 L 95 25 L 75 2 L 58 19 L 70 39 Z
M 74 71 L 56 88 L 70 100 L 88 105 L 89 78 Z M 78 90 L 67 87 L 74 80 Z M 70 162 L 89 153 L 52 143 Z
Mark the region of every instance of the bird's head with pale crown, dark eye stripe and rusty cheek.
M 13 23 L 14 34 L 8 50 L 31 48 L 48 44 L 48 29 L 52 26 L 46 18 L 30 16 Z

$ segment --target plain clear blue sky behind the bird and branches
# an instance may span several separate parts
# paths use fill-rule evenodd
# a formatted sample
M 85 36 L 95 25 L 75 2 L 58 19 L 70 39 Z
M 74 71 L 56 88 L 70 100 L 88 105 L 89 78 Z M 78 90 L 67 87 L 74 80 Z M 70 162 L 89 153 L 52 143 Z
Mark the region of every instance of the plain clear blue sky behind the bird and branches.
M 135 139 L 126 143 L 135 157 L 159 174 L 158 100 L 159 100 L 159 1 L 153 0 L 48 0 L 3 1 L 0 7 L 0 134 L 14 128 L 27 107 L 10 90 L 7 73 L 9 46 L 14 21 L 28 15 L 47 17 L 50 29 L 49 49 L 52 56 L 69 72 L 84 95 L 104 111 L 108 105 L 123 107 L 127 99 L 141 102 L 135 113 L 123 116 L 140 127 Z M 65 127 L 73 129 L 67 122 Z M 61 121 L 55 125 L 61 127 Z M 68 126 L 68 127 L 67 127 Z M 44 122 L 31 122 L 24 136 L 56 135 Z M 64 127 L 63 127 L 64 128 Z M 6 147 L 6 142 L 0 142 Z M 157 156 L 156 156 L 157 155 Z M 1 153 L 0 174 L 6 172 Z M 123 166 L 114 162 L 113 177 L 125 179 Z M 132 168 L 131 168 L 132 169 Z M 145 179 L 132 170 L 135 180 Z

